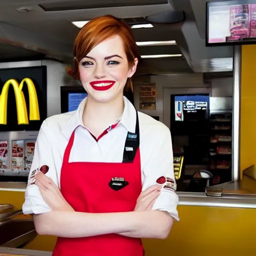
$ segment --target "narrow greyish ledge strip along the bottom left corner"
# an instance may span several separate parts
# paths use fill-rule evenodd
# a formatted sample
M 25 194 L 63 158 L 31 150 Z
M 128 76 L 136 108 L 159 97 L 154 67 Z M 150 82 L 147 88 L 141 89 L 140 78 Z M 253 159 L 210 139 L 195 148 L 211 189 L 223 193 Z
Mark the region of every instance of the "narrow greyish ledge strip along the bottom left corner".
M 51 256 L 51 252 L 49 251 L 41 251 L 41 250 L 27 250 L 27 249 L 16 249 L 16 248 L 6 248 L 0 247 L 0 256 Z

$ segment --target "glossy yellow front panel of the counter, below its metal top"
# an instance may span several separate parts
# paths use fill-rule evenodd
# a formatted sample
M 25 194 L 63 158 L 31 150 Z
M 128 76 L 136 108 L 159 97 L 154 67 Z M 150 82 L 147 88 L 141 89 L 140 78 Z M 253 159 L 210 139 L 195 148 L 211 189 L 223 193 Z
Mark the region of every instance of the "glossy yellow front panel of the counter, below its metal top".
M 0 191 L 0 203 L 21 207 L 23 192 Z M 145 256 L 250 256 L 255 255 L 256 210 L 178 206 L 175 222 L 165 240 L 143 240 Z M 37 236 L 28 249 L 52 250 L 55 237 Z

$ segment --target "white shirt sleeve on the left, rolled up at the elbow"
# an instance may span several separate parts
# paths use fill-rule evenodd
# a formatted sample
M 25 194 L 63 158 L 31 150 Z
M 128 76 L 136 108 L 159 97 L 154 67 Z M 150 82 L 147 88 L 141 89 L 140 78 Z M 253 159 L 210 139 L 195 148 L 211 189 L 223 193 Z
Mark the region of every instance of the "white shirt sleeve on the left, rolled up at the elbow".
M 45 173 L 46 176 L 52 178 L 52 180 L 57 184 L 57 174 L 52 155 L 50 131 L 45 120 L 42 122 L 35 142 L 34 156 L 25 190 L 25 201 L 22 205 L 22 211 L 24 214 L 40 214 L 51 210 L 44 202 L 38 186 L 34 184 L 34 176 L 38 171 Z

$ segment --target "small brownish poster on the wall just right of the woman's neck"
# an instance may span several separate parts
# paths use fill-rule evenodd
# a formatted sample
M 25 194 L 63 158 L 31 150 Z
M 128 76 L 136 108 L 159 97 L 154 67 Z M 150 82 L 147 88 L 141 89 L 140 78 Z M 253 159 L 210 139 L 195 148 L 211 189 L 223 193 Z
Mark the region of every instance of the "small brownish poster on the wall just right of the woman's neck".
M 155 110 L 155 83 L 139 84 L 139 109 Z

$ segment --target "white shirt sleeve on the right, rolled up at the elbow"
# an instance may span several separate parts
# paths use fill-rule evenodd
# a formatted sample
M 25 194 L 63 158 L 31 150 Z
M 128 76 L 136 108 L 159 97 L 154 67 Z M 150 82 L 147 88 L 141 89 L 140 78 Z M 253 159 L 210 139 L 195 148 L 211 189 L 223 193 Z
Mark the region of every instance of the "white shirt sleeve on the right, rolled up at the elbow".
M 154 133 L 154 139 L 151 142 L 152 154 L 143 166 L 142 190 L 150 185 L 162 184 L 160 195 L 155 200 L 152 210 L 167 211 L 175 220 L 179 220 L 177 212 L 178 196 L 175 189 L 170 188 L 175 184 L 173 171 L 173 152 L 170 130 L 162 124 L 160 129 Z

